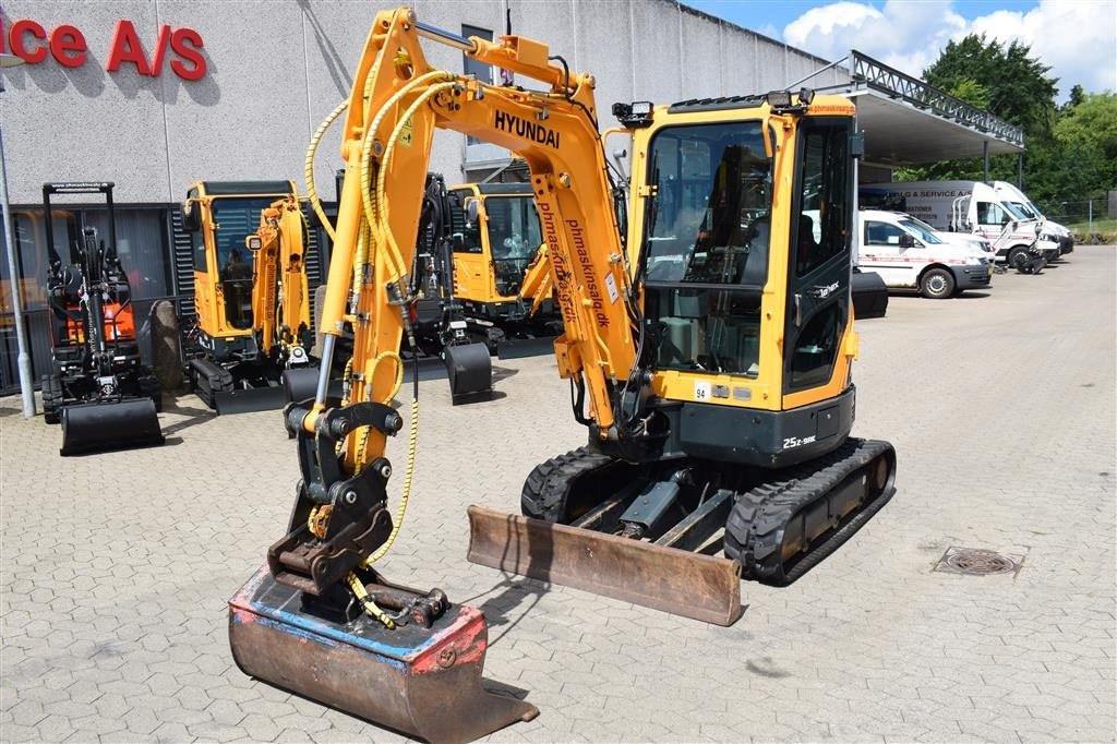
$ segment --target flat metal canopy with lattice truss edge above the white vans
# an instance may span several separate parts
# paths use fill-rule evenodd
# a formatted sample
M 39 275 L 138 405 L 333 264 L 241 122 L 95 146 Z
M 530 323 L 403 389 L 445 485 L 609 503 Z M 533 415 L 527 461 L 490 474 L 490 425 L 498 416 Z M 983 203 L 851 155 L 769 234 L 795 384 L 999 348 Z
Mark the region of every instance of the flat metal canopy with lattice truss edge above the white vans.
M 859 51 L 848 58 L 851 79 L 839 86 L 857 105 L 866 162 L 917 165 L 1024 151 L 1023 132 L 927 83 Z

